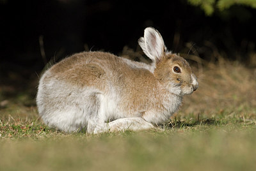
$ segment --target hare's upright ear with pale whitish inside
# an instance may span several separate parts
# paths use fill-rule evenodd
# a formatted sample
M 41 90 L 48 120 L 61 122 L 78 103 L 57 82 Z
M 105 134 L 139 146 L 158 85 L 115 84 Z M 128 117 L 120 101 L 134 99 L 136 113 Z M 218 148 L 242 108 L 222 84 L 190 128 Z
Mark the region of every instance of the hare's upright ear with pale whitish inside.
M 161 34 L 152 27 L 147 27 L 144 31 L 144 38 L 138 41 L 143 52 L 152 59 L 153 63 L 161 61 L 166 47 Z

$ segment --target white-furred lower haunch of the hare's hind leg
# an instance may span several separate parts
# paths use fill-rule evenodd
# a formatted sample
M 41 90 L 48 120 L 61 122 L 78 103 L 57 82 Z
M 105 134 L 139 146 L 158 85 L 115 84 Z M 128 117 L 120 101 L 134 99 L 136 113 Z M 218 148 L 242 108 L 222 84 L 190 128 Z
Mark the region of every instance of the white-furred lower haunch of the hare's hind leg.
M 72 133 L 87 130 L 93 132 L 96 128 L 99 129 L 104 125 L 104 115 L 101 115 L 102 112 L 100 112 L 100 100 L 97 93 L 86 95 L 84 98 L 73 95 L 62 101 L 52 101 L 53 107 L 43 106 L 39 114 L 45 124 L 61 131 Z M 58 104 L 60 105 L 58 106 Z

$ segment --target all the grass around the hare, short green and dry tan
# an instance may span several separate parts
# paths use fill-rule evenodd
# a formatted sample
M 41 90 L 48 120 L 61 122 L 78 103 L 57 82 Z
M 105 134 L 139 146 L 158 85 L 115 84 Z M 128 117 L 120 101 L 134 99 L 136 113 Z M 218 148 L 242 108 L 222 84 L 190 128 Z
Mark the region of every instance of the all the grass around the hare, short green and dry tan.
M 255 170 L 256 70 L 228 61 L 193 70 L 198 91 L 170 123 L 140 132 L 48 128 L 36 112 L 35 79 L 34 92 L 1 85 L 0 170 Z

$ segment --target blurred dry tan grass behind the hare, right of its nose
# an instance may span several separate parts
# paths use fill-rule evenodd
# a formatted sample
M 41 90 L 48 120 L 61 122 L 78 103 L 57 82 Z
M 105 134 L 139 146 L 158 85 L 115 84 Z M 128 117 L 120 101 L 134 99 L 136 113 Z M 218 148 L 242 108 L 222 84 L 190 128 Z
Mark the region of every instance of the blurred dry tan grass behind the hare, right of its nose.
M 206 114 L 256 114 L 256 69 L 221 60 L 196 73 L 200 87 L 184 101 L 180 112 Z

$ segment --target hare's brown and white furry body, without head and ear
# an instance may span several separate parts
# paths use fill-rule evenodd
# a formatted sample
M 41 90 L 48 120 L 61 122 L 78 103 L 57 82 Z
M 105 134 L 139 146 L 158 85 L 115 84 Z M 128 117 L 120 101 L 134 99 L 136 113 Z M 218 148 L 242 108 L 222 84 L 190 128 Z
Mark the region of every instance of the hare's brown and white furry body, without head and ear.
M 182 98 L 168 92 L 151 68 L 104 52 L 75 54 L 44 73 L 38 87 L 39 114 L 49 126 L 68 132 L 103 130 L 109 121 L 126 117 L 164 123 Z

